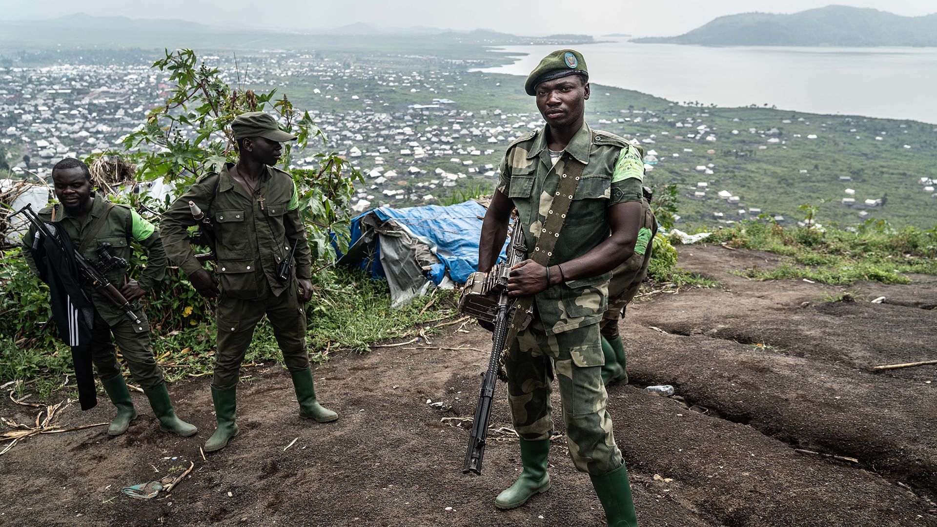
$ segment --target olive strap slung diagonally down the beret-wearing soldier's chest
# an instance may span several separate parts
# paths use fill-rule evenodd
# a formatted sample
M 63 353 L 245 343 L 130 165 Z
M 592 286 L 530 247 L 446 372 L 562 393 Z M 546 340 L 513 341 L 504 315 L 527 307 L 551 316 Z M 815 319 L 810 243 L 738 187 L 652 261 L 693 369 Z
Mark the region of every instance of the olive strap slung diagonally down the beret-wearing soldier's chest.
M 563 173 L 559 176 L 557 191 L 553 194 L 553 203 L 546 214 L 546 220 L 543 221 L 543 228 L 540 236 L 537 238 L 537 245 L 530 252 L 529 257 L 537 264 L 544 267 L 549 264 L 550 257 L 553 256 L 553 249 L 557 247 L 559 232 L 563 230 L 563 224 L 566 222 L 566 214 L 570 211 L 570 205 L 573 203 L 573 196 L 576 194 L 576 187 L 579 186 L 579 178 L 582 176 L 583 169 L 586 168 L 578 159 L 570 156 Z M 501 351 L 501 361 L 509 354 L 511 344 L 517 338 L 521 331 L 527 312 L 533 306 L 533 295 L 522 296 L 514 303 L 513 317 L 511 325 L 508 327 L 508 335 L 504 339 L 504 349 Z

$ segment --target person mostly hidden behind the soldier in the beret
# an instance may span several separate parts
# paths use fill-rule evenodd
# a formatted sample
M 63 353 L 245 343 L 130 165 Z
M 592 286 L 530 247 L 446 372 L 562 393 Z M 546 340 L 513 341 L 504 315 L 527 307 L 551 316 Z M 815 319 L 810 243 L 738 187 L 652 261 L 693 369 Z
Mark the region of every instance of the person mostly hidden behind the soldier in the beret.
M 657 234 L 657 219 L 650 210 L 650 204 L 647 203 L 648 192 L 645 192 L 645 200 L 641 203 L 641 229 L 638 236 L 644 237 L 650 234 L 650 239 L 654 239 Z M 612 279 L 608 282 L 608 309 L 602 316 L 602 323 L 599 324 L 602 334 L 602 354 L 605 355 L 605 364 L 602 366 L 602 382 L 608 384 L 628 384 L 628 366 L 625 360 L 625 345 L 618 335 L 618 321 L 624 320 L 625 311 L 628 304 L 631 303 L 634 295 L 641 287 L 641 282 L 647 278 L 647 265 L 650 264 L 651 246 L 640 252 L 641 248 L 635 248 L 631 258 L 624 264 L 618 265 L 612 271 Z

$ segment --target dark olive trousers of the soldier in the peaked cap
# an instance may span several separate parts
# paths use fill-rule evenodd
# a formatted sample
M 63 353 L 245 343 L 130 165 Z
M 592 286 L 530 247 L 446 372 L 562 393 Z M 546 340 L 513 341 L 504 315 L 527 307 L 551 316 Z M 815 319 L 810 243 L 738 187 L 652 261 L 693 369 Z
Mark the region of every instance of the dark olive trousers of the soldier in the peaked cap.
M 218 296 L 215 316 L 218 326 L 215 373 L 212 385 L 221 390 L 237 386 L 241 364 L 250 342 L 254 338 L 254 327 L 267 315 L 274 327 L 276 343 L 283 352 L 283 362 L 290 371 L 309 368 L 309 354 L 305 349 L 305 309 L 300 304 L 296 280 L 279 296 L 270 291 L 264 280 L 260 297 L 251 300 L 231 298 L 221 292 Z

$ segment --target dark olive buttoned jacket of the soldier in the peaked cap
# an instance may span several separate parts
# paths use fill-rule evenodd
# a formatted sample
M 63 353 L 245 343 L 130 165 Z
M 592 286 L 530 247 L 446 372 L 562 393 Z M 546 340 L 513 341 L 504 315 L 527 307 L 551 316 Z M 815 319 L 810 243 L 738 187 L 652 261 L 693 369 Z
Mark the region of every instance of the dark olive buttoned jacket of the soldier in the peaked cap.
M 257 298 L 266 281 L 273 294 L 279 295 L 290 287 L 290 280 L 280 281 L 276 275 L 279 264 L 290 256 L 293 240 L 299 240 L 296 277 L 307 279 L 311 272 L 311 251 L 299 216 L 299 193 L 289 173 L 267 167 L 257 186 L 261 205 L 231 177 L 231 166 L 227 163 L 220 173 L 202 176 L 163 213 L 159 228 L 166 253 L 187 275 L 201 269 L 186 232 L 196 223 L 188 206 L 192 201 L 215 218 L 221 291 L 234 298 Z

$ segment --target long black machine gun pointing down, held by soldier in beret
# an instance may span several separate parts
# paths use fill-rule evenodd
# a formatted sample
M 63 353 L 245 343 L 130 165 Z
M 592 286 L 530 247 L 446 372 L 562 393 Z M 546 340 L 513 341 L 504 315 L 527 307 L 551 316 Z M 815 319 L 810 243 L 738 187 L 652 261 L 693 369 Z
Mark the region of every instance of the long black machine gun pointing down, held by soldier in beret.
M 494 313 L 495 329 L 492 332 L 491 356 L 488 358 L 488 369 L 482 374 L 482 389 L 478 394 L 478 404 L 475 406 L 475 417 L 472 419 L 471 436 L 468 439 L 463 474 L 482 474 L 482 459 L 484 445 L 488 437 L 488 420 L 491 418 L 491 399 L 495 395 L 495 383 L 500 376 L 501 352 L 508 336 L 508 327 L 513 316 L 528 316 L 528 313 L 517 313 L 516 300 L 508 298 L 508 276 L 511 268 L 527 258 L 527 245 L 524 243 L 524 230 L 520 219 L 515 218 L 511 230 L 511 243 L 508 245 L 508 261 L 497 264 L 483 279 L 483 293 L 487 298 L 497 294 L 498 304 Z M 478 273 L 482 275 L 483 273 Z M 467 285 L 467 289 L 468 289 Z M 464 306 L 463 306 L 464 308 Z M 472 312 L 467 309 L 465 312 Z M 490 311 L 489 311 L 490 312 Z

